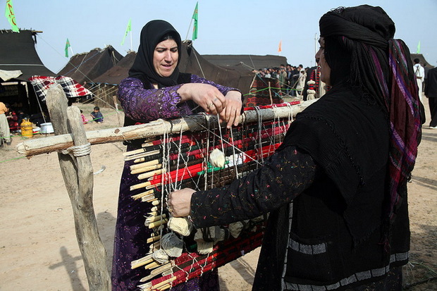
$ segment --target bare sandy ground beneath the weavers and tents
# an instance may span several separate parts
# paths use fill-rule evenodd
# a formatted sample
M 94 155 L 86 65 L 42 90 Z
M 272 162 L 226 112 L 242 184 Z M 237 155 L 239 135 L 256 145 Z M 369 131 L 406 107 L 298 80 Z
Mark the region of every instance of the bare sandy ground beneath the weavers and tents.
M 85 113 L 93 107 L 76 105 Z M 426 105 L 429 118 L 428 110 Z M 115 128 L 123 120 L 122 114 L 117 116 L 111 109 L 101 111 L 104 123 L 87 124 L 85 130 Z M 437 290 L 437 280 L 421 283 L 437 276 L 437 130 L 429 129 L 428 124 L 429 119 L 408 184 L 412 264 L 405 267 L 404 285 L 409 290 Z M 57 154 L 26 159 L 15 151 L 23 140 L 17 135 L 11 146 L 0 148 L 0 290 L 88 290 Z M 117 142 L 92 146 L 91 153 L 94 172 L 104 168 L 94 175 L 94 210 L 106 247 L 108 270 L 123 151 L 125 147 Z M 221 290 L 250 290 L 258 255 L 256 249 L 219 268 Z

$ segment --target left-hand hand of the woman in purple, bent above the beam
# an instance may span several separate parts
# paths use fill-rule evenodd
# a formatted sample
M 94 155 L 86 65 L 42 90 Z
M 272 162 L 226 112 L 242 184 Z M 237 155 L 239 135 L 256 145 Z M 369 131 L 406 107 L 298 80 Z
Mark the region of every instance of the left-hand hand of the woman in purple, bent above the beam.
M 203 83 L 187 83 L 178 89 L 180 101 L 192 100 L 205 112 L 219 114 L 226 107 L 226 99 L 216 87 Z M 228 120 L 225 120 L 228 122 Z

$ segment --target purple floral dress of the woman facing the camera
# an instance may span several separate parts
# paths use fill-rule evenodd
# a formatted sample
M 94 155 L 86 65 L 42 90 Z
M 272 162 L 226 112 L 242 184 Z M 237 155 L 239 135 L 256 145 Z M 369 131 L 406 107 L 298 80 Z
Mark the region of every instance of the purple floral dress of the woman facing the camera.
M 230 87 L 216 85 L 214 82 L 191 75 L 192 83 L 213 85 L 226 95 Z M 121 101 L 125 116 L 139 123 L 145 123 L 158 118 L 175 118 L 192 113 L 185 102 L 180 103 L 177 90 L 182 85 L 164 87 L 161 89 L 144 89 L 141 80 L 126 78 L 118 88 L 118 99 Z M 150 85 L 150 87 L 152 87 Z M 128 151 L 135 149 L 134 144 L 128 145 Z M 142 190 L 130 191 L 130 186 L 139 182 L 136 175 L 130 174 L 133 161 L 125 161 L 121 176 L 120 194 L 118 197 L 118 213 L 116 234 L 113 247 L 112 290 L 138 290 L 140 279 L 148 275 L 144 268 L 130 268 L 130 262 L 140 259 L 149 252 L 147 238 L 152 230 L 144 225 L 144 216 L 151 206 L 148 203 L 132 199 L 132 195 Z M 173 287 L 172 290 L 219 290 L 219 275 L 217 270 L 205 273 L 201 278 L 195 278 L 187 283 Z

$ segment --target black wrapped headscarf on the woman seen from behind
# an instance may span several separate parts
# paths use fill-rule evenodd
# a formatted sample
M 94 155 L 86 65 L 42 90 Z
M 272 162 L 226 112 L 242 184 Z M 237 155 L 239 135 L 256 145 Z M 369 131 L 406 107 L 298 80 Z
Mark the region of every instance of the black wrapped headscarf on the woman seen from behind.
M 374 58 L 381 63 L 382 78 L 388 83 L 388 40 L 395 35 L 393 20 L 381 7 L 361 5 L 330 11 L 320 18 L 319 25 L 326 62 L 331 67 L 331 85 L 347 79 L 386 109 L 380 80 L 374 74 Z

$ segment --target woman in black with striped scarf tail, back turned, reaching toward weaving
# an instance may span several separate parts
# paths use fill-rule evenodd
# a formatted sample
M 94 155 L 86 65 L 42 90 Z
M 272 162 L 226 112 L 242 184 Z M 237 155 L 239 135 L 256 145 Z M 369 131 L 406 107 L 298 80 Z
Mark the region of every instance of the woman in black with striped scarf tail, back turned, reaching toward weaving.
M 264 166 L 225 187 L 172 192 L 168 206 L 195 228 L 269 212 L 252 290 L 402 290 L 421 137 L 410 51 L 381 7 L 340 7 L 319 27 L 331 89 Z

